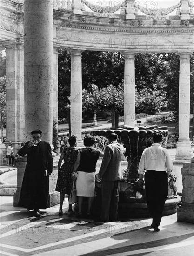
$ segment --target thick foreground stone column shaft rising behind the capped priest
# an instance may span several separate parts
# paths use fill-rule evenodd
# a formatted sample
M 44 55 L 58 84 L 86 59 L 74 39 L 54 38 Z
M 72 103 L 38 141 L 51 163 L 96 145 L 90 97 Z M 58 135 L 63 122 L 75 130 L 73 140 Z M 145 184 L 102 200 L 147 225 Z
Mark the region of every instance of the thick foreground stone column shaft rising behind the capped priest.
M 52 144 L 53 0 L 24 2 L 25 137 L 33 129 Z

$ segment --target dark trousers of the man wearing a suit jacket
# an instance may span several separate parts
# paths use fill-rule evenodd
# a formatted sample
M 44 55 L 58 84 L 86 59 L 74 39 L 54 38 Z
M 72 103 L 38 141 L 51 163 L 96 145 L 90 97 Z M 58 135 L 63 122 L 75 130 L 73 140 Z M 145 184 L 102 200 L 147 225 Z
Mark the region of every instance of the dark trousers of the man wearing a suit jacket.
M 117 219 L 120 180 L 101 181 L 102 209 L 100 218 L 104 221 Z

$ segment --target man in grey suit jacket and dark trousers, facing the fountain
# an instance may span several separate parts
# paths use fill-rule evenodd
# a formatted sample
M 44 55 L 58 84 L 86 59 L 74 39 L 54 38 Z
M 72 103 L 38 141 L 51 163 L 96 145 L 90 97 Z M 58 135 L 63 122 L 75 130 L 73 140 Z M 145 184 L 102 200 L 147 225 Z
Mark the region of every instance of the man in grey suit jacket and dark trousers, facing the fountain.
M 99 171 L 101 179 L 102 209 L 99 221 L 117 220 L 120 180 L 122 179 L 121 159 L 125 148 L 118 143 L 115 133 L 109 136 Z

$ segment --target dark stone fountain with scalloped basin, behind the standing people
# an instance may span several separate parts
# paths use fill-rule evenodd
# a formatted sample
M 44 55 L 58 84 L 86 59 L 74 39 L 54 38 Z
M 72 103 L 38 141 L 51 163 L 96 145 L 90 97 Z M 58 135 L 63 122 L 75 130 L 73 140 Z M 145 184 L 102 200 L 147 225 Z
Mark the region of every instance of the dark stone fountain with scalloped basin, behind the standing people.
M 138 184 L 138 165 L 145 148 L 152 145 L 152 138 L 155 132 L 161 132 L 163 140 L 161 146 L 165 147 L 168 137 L 168 127 L 139 126 L 131 127 L 124 125 L 123 128 L 111 128 L 109 130 L 95 130 L 90 133 L 92 136 L 105 137 L 111 133 L 118 135 L 118 140 L 126 148 L 127 168 L 123 169 L 123 180 L 120 182 L 120 195 L 118 215 L 120 217 L 148 217 L 145 188 Z M 165 202 L 163 215 L 177 212 L 177 204 L 181 198 L 176 193 L 176 186 L 169 184 L 169 197 Z M 100 203 L 100 183 L 96 182 L 97 198 Z M 96 210 L 96 209 L 95 209 Z

